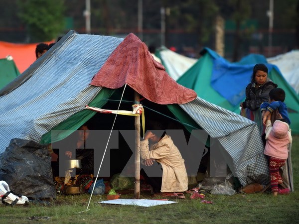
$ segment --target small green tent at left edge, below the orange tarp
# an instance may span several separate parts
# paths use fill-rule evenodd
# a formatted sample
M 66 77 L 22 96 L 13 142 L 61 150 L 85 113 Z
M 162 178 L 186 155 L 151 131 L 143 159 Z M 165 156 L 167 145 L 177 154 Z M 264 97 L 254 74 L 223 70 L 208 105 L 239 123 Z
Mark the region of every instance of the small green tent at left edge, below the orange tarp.
M 0 89 L 10 83 L 19 74 L 11 56 L 0 59 Z

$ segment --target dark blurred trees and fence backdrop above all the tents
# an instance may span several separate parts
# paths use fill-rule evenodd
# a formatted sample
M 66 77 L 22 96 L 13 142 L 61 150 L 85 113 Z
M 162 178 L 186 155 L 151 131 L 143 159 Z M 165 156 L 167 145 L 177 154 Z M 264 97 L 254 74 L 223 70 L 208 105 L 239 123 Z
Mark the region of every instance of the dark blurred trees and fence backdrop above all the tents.
M 90 0 L 91 33 L 139 35 L 139 0 Z M 249 53 L 267 54 L 269 0 L 142 0 L 142 40 L 161 43 L 160 8 L 166 10 L 165 46 L 198 57 L 214 49 L 215 17 L 225 19 L 225 58 L 236 61 Z M 56 39 L 70 29 L 85 33 L 85 0 L 0 0 L 0 40 L 39 42 Z M 299 0 L 274 0 L 273 55 L 299 48 Z M 190 53 L 190 52 L 189 52 Z

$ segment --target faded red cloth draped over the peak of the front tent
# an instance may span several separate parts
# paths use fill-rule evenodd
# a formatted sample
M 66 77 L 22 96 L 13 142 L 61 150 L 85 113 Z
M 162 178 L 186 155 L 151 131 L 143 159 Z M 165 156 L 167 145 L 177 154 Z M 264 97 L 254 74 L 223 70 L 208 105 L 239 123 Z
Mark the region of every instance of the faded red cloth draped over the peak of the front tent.
M 90 84 L 117 89 L 125 83 L 157 104 L 185 104 L 197 97 L 193 90 L 177 84 L 133 33 L 112 52 Z

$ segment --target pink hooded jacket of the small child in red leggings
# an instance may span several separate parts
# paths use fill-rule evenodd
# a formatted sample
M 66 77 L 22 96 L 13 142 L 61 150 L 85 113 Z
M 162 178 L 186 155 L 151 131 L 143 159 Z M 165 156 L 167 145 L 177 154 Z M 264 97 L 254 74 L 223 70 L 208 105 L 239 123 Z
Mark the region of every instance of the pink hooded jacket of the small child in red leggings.
M 276 120 L 267 138 L 264 154 L 278 159 L 288 158 L 289 125 Z

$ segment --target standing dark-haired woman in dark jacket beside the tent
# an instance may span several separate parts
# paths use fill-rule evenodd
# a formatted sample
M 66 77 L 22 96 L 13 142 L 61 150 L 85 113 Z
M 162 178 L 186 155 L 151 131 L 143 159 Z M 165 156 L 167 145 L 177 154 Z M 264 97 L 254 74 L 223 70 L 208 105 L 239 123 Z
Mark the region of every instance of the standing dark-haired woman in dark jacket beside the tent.
M 268 68 L 264 64 L 256 64 L 253 68 L 251 82 L 246 87 L 246 99 L 240 104 L 241 114 L 257 122 L 261 135 L 265 132 L 260 106 L 269 102 L 269 92 L 277 85 L 268 78 Z

